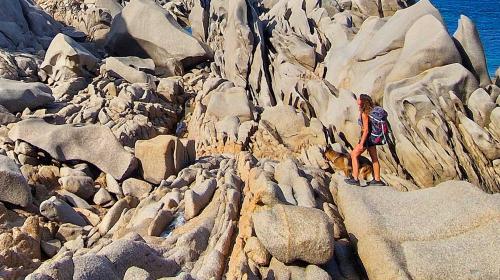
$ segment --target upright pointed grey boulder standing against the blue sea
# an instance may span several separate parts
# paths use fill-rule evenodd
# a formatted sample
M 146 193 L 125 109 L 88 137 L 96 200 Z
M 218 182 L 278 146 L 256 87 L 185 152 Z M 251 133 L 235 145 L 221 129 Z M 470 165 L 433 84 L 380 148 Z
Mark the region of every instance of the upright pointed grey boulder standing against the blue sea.
M 479 85 L 485 87 L 491 84 L 483 44 L 474 22 L 467 16 L 461 15 L 453 37 L 456 39 L 464 65 L 474 73 L 479 80 Z

